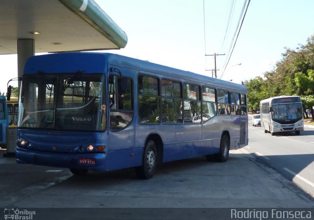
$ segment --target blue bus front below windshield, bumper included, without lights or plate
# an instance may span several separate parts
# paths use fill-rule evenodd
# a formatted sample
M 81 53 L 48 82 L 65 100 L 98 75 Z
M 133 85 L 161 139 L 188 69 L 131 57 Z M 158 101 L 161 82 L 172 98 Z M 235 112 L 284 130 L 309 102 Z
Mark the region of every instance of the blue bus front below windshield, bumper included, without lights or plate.
M 18 163 L 38 164 L 53 167 L 104 171 L 107 169 L 104 152 L 88 152 L 87 146 L 106 146 L 106 133 L 67 132 L 49 130 L 19 129 L 19 140 L 27 143 L 25 148 L 17 147 Z M 95 165 L 81 165 L 79 158 L 95 158 Z

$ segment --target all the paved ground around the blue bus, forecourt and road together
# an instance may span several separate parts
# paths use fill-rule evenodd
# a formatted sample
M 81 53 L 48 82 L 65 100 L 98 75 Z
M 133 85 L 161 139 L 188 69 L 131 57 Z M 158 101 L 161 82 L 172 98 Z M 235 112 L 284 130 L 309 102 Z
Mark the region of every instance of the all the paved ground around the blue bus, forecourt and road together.
M 307 129 L 300 136 L 271 136 L 250 126 L 249 145 L 231 151 L 226 163 L 204 157 L 166 163 L 150 180 L 138 179 L 133 169 L 74 176 L 3 157 L 0 208 L 35 210 L 33 220 L 218 220 L 230 217 L 230 208 L 313 210 L 313 187 L 298 176 L 313 183 L 313 134 Z

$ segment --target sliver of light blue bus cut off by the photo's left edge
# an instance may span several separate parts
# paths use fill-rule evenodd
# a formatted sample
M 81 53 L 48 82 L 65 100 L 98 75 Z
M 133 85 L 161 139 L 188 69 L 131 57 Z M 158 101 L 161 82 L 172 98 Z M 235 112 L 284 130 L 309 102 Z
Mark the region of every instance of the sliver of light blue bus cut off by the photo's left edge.
M 8 109 L 5 96 L 0 95 L 0 148 L 6 146 L 6 131 L 9 125 Z

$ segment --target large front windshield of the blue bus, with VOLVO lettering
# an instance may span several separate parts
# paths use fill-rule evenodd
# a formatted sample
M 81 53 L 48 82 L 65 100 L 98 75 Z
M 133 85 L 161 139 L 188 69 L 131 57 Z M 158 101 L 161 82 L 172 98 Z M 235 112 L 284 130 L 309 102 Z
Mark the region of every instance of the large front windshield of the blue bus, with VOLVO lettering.
M 100 131 L 106 128 L 105 75 L 24 75 L 19 128 Z

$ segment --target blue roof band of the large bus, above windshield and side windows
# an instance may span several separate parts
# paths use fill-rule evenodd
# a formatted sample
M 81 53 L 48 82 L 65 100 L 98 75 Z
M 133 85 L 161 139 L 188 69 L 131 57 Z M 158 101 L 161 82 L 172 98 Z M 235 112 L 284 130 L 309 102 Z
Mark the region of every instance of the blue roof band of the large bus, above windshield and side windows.
M 130 67 L 150 73 L 159 73 L 181 79 L 221 86 L 246 92 L 246 87 L 230 81 L 183 71 L 159 64 L 134 59 L 118 54 L 100 52 L 65 52 L 32 56 L 26 62 L 23 74 L 35 73 L 106 73 L 108 63 L 111 65 Z

